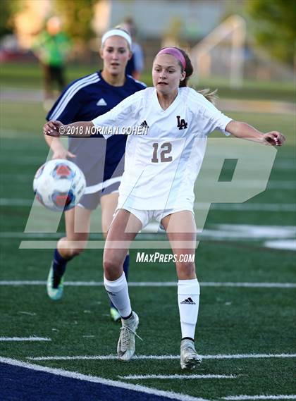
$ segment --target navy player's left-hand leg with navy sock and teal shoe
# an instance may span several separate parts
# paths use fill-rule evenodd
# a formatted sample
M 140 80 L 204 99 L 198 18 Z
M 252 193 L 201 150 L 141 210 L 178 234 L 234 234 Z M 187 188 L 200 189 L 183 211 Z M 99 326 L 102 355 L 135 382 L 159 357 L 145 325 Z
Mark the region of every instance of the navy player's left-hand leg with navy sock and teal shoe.
M 87 246 L 90 233 L 91 210 L 80 206 L 65 212 L 66 237 L 58 240 L 54 261 L 47 278 L 47 294 L 58 301 L 63 296 L 63 275 L 70 259 L 80 254 Z

